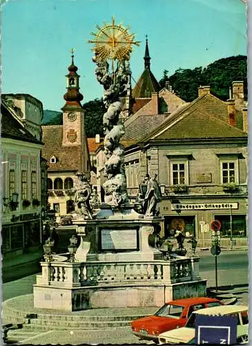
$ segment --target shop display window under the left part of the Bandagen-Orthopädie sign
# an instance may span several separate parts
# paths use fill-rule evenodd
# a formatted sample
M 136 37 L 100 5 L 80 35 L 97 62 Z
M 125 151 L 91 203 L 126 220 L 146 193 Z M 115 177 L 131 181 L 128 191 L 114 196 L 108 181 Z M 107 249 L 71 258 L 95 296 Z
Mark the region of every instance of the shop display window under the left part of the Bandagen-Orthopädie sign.
M 174 237 L 176 230 L 195 237 L 195 216 L 164 217 L 164 237 Z

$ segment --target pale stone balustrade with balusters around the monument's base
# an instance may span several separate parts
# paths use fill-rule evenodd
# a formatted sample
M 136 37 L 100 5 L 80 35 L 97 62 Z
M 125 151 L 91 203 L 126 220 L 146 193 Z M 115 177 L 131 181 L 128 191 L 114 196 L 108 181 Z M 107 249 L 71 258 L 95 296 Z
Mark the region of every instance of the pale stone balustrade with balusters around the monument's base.
M 77 288 L 128 284 L 175 284 L 199 280 L 199 257 L 167 261 L 41 262 L 40 286 Z

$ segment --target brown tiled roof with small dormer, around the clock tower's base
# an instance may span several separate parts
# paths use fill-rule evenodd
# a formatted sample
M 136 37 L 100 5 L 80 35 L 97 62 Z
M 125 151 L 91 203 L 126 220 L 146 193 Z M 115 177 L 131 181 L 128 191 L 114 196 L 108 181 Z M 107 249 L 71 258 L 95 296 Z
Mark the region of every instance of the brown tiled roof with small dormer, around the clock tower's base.
M 81 169 L 81 146 L 62 147 L 62 125 L 42 126 L 43 143 L 42 156 L 48 161 L 48 171 L 75 171 Z M 55 156 L 56 163 L 50 163 Z

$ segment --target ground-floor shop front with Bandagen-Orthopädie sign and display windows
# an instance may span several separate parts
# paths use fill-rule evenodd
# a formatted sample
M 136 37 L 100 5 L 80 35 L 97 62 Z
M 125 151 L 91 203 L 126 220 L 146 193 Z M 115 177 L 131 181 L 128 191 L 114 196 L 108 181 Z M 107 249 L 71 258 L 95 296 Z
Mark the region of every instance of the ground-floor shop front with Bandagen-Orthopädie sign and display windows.
M 192 201 L 165 199 L 160 203 L 160 211 L 164 217 L 162 235 L 173 238 L 176 230 L 185 237 L 195 237 L 197 246 L 211 246 L 211 221 L 217 219 L 221 223 L 221 245 L 245 246 L 248 244 L 248 217 L 246 199 L 214 199 L 211 201 Z

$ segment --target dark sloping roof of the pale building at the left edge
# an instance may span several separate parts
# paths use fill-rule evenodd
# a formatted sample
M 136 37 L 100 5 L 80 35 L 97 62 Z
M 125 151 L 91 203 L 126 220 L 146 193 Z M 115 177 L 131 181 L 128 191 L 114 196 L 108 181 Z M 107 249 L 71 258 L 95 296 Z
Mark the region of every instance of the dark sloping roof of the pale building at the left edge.
M 14 118 L 6 105 L 1 103 L 1 136 L 26 142 L 42 144 L 30 132 Z

